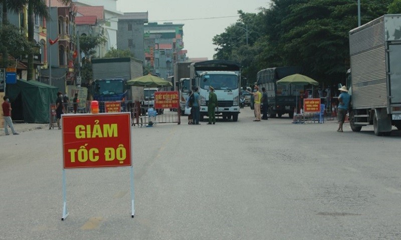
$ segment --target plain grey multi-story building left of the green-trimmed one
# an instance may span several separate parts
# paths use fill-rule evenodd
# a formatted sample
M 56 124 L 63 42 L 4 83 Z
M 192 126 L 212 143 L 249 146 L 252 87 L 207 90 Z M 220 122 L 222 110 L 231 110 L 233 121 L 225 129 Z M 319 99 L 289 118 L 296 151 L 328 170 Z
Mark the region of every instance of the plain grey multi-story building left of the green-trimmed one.
M 129 49 L 135 58 L 145 61 L 143 44 L 144 23 L 148 12 L 124 12 L 118 17 L 117 48 Z

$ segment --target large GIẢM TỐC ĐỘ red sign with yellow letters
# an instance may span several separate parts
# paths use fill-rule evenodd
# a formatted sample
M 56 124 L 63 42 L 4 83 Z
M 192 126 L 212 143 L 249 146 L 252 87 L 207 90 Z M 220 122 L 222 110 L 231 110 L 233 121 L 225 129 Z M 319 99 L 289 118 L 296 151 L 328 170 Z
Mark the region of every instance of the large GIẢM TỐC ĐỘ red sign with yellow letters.
M 65 114 L 64 168 L 131 165 L 130 113 Z

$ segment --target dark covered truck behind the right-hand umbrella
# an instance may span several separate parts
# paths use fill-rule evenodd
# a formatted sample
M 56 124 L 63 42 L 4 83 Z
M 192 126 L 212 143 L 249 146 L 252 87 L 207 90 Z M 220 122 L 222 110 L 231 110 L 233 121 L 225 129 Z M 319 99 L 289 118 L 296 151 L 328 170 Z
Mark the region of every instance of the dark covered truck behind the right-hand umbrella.
M 257 74 L 257 84 L 260 89 L 266 88 L 267 98 L 269 101 L 268 115 L 270 117 L 281 117 L 288 113 L 289 117 L 294 116 L 294 109 L 299 96 L 297 91 L 300 90 L 296 86 L 277 84 L 281 78 L 301 73 L 302 68 L 299 66 L 283 66 L 272 67 L 260 70 Z

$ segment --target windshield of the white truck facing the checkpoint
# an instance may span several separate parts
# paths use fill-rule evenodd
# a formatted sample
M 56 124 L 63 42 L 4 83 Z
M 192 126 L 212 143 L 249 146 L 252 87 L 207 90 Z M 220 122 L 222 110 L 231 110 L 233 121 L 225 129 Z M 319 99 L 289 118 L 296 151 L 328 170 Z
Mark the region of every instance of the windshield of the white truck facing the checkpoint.
M 215 90 L 237 89 L 238 76 L 229 74 L 205 74 L 200 80 L 200 87 L 208 89 L 213 86 Z

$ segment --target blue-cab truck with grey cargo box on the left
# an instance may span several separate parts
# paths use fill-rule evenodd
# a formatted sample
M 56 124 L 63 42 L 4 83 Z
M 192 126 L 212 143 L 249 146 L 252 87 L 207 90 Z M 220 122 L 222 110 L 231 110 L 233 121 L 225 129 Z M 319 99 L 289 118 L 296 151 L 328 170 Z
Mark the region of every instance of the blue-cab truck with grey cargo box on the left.
M 92 59 L 92 70 L 94 100 L 143 99 L 143 87 L 126 84 L 127 80 L 143 75 L 141 60 L 132 57 L 95 58 Z

